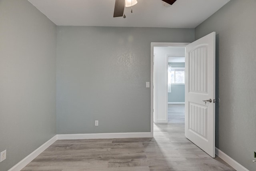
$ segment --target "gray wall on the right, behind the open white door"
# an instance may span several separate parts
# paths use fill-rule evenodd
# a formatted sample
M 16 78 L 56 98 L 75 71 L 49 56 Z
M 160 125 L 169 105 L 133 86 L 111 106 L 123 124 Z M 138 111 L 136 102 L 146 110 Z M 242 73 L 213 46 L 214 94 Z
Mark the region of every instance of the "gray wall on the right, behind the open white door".
M 256 1 L 231 0 L 196 27 L 216 31 L 216 147 L 250 171 L 256 150 Z

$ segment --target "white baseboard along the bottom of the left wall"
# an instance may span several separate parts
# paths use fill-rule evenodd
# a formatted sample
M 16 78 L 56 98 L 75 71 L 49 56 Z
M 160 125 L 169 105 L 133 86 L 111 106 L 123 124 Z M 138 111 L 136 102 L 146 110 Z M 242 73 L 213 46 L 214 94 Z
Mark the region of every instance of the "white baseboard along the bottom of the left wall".
M 30 153 L 27 157 L 22 159 L 19 163 L 14 165 L 11 169 L 8 171 L 20 171 L 23 169 L 28 163 L 30 163 L 32 160 L 34 160 L 38 155 L 40 155 L 44 150 L 46 150 L 50 145 L 52 145 L 57 140 L 57 135 L 46 141 L 43 145 L 38 147 L 35 151 Z

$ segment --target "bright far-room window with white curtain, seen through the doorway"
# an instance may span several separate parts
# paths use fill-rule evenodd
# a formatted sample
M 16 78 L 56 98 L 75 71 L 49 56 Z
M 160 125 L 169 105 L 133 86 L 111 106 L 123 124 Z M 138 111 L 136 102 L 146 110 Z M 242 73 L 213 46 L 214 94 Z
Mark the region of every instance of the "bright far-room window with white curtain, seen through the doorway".
M 168 92 L 171 92 L 171 84 L 185 84 L 185 68 L 168 65 Z

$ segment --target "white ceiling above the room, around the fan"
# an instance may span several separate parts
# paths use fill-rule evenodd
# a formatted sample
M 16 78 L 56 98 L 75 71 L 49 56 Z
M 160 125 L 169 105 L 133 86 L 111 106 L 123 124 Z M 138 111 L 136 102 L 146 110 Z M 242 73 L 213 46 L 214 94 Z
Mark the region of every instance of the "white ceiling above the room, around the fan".
M 113 18 L 115 0 L 28 0 L 58 26 L 195 28 L 230 0 L 137 0 Z

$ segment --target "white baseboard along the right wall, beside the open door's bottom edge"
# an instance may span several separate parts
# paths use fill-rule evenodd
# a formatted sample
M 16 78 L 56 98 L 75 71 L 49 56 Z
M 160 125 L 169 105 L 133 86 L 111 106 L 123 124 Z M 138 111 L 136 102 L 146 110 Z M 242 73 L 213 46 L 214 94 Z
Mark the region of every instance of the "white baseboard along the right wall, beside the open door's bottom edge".
M 226 161 L 230 166 L 232 166 L 237 171 L 249 171 L 244 166 L 239 164 L 237 161 L 226 155 L 223 151 L 215 147 L 215 153 L 218 155 L 222 160 Z

